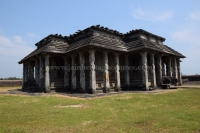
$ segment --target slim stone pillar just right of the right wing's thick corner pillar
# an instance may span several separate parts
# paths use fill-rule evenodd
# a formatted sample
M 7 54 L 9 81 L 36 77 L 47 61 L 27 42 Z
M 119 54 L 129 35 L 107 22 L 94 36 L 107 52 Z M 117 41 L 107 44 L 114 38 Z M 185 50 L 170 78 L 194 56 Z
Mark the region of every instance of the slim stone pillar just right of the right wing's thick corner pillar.
M 155 73 L 155 60 L 154 60 L 154 53 L 150 54 L 151 58 L 151 86 L 156 88 L 156 73 Z

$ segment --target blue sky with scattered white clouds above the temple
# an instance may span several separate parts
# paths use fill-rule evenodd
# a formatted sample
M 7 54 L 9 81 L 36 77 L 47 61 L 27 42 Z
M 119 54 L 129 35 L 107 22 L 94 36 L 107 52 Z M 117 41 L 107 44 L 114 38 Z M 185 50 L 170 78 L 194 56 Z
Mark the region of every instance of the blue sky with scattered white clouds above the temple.
M 162 36 L 187 57 L 182 74 L 200 74 L 200 0 L 0 0 L 0 78 L 22 78 L 18 62 L 49 34 L 98 24 Z

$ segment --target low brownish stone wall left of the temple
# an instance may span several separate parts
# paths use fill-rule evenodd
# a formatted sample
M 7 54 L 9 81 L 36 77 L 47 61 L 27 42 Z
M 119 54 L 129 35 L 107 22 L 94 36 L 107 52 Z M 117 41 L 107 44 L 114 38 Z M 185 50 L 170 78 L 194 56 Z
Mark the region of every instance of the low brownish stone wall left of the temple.
M 0 80 L 0 87 L 22 86 L 22 80 Z

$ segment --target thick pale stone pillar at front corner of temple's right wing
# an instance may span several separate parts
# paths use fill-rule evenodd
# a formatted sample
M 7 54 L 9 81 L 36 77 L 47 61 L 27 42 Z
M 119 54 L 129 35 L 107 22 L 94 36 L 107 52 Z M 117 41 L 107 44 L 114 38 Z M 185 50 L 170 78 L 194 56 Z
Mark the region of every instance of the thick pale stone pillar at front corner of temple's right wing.
M 147 73 L 147 52 L 140 53 L 142 56 L 142 84 L 144 90 L 149 90 Z

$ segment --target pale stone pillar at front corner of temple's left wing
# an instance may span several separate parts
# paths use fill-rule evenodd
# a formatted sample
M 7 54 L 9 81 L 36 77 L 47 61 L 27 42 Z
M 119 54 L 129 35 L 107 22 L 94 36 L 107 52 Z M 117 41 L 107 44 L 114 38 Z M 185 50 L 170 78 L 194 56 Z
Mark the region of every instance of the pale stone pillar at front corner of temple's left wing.
M 49 55 L 45 55 L 45 92 L 50 92 Z

